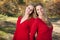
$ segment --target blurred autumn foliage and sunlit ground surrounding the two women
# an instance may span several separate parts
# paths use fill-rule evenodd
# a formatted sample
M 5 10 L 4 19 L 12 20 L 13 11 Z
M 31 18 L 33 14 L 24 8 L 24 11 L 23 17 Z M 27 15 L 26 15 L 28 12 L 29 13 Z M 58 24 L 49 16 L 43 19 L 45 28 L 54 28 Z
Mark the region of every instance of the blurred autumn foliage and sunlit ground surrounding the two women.
M 29 3 L 42 3 L 53 24 L 53 40 L 60 40 L 60 0 L 0 0 L 0 40 L 12 40 L 17 17 Z

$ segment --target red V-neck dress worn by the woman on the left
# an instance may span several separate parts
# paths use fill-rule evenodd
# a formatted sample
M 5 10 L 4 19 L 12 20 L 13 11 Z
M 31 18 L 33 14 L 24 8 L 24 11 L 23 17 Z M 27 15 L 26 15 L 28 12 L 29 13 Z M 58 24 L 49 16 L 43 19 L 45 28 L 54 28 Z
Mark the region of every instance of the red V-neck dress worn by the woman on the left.
M 33 24 L 34 18 L 30 18 L 29 20 L 25 20 L 20 24 L 22 17 L 18 17 L 16 24 L 16 31 L 14 33 L 13 40 L 29 40 L 30 27 Z

